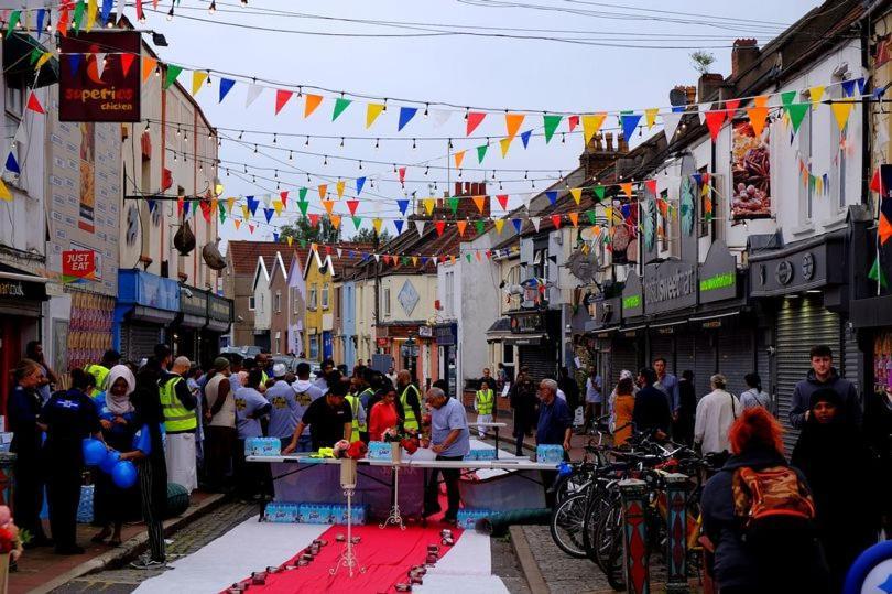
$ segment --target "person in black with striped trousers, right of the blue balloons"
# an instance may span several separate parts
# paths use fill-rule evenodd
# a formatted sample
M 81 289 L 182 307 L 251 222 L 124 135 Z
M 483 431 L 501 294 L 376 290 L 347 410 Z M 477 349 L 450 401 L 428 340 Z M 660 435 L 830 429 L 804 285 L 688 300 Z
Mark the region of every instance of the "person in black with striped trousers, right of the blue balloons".
M 149 552 L 131 563 L 135 569 L 164 565 L 164 515 L 167 506 L 167 465 L 164 458 L 164 411 L 161 407 L 157 380 L 161 366 L 152 358 L 137 374 L 137 387 L 131 396 L 134 407 L 133 425 L 139 428 L 133 442 L 121 460 L 130 460 L 139 473 L 142 518 L 149 534 Z

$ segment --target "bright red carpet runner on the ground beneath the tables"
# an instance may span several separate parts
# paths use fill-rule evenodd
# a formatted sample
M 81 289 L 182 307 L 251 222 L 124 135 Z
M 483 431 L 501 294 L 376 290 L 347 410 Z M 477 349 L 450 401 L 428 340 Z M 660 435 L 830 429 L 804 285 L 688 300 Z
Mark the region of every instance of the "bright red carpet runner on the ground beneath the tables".
M 328 544 L 322 548 L 319 554 L 309 564 L 270 573 L 265 577 L 265 584 L 250 585 L 247 592 L 263 592 L 264 594 L 395 592 L 394 586 L 398 583 L 409 583 L 409 570 L 425 562 L 428 544 L 439 546 L 440 559 L 448 554 L 449 547 L 440 544 L 439 532 L 443 528 L 447 528 L 447 526 L 439 522 L 429 522 L 425 528 L 410 526 L 405 530 L 394 527 L 382 530 L 377 523 L 355 526 L 353 536 L 361 537 L 361 540 L 353 547 L 353 554 L 359 561 L 359 566 L 366 569 L 366 573 L 353 570 L 353 577 L 350 577 L 345 566 L 338 568 L 335 575 L 329 573 L 346 546 L 345 542 L 337 542 L 335 537 L 347 533 L 346 527 L 333 526 L 319 537 Z M 461 530 L 453 527 L 452 531 L 455 541 L 458 542 Z M 297 559 L 304 552 L 302 550 L 285 564 L 296 565 Z M 258 568 L 258 571 L 263 569 Z M 242 582 L 242 584 L 250 583 L 250 579 Z

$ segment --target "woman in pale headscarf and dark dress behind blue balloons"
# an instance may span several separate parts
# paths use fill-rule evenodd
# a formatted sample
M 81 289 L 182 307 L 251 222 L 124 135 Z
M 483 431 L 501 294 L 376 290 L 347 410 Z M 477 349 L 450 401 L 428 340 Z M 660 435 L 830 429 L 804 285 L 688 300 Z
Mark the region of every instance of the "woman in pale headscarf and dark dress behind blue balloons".
M 133 403 L 130 395 L 137 389 L 137 379 L 126 365 L 116 365 L 108 372 L 108 389 L 96 396 L 96 410 L 102 425 L 102 438 L 112 450 L 126 452 L 133 443 Z M 121 543 L 121 527 L 137 508 L 135 487 L 121 489 L 111 479 L 111 474 L 102 468 L 94 471 L 94 520 L 102 529 L 93 537 L 93 542 L 104 542 L 117 547 Z

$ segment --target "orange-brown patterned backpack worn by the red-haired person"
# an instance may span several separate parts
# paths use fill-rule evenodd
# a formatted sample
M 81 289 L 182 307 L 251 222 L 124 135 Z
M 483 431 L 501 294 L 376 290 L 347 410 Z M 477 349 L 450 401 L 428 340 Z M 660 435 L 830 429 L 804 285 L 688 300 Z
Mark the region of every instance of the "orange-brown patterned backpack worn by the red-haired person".
M 812 533 L 815 504 L 808 488 L 788 466 L 741 467 L 731 479 L 735 517 L 744 539 L 775 539 L 781 532 Z

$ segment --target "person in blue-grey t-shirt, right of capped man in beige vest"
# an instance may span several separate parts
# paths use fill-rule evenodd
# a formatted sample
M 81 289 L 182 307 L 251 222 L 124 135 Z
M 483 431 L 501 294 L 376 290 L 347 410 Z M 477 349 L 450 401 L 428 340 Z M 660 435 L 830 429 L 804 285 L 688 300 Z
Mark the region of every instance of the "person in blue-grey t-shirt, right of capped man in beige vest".
M 263 428 L 260 419 L 268 415 L 272 406 L 263 398 L 261 389 L 263 386 L 263 371 L 251 369 L 244 380 L 244 386 L 238 388 L 235 393 L 236 400 L 236 429 L 238 431 L 238 446 L 236 449 L 236 488 L 241 498 L 251 500 L 259 497 L 258 489 L 265 486 L 265 469 L 269 465 L 250 464 L 244 461 L 244 442 L 249 438 L 262 438 Z

